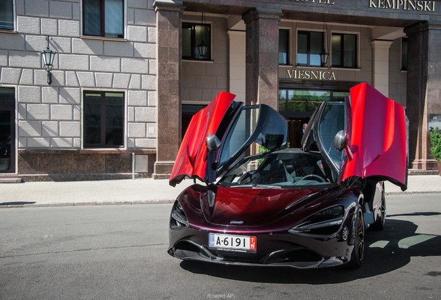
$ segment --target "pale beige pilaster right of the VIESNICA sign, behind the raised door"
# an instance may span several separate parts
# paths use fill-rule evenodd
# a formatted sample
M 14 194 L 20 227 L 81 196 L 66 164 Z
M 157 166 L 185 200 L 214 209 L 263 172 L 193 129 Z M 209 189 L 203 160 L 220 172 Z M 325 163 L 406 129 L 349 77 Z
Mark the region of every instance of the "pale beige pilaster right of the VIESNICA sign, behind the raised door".
M 374 88 L 389 97 L 389 49 L 392 41 L 373 40 L 373 78 Z

